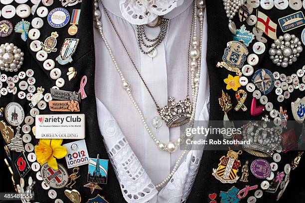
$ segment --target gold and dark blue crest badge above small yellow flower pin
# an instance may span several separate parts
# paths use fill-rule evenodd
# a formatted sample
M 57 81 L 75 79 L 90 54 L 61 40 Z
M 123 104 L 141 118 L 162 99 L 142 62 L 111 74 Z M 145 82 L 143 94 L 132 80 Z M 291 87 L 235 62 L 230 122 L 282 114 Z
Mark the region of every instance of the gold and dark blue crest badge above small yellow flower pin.
M 237 75 L 241 76 L 242 73 L 239 69 L 243 67 L 248 53 L 246 45 L 238 41 L 230 41 L 227 43 L 227 48 L 222 56 L 223 62 L 218 62 L 216 66 L 225 67 L 229 71 L 236 72 Z

